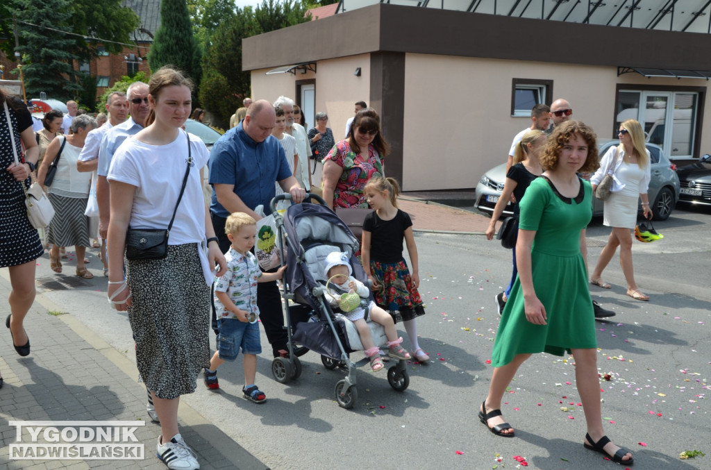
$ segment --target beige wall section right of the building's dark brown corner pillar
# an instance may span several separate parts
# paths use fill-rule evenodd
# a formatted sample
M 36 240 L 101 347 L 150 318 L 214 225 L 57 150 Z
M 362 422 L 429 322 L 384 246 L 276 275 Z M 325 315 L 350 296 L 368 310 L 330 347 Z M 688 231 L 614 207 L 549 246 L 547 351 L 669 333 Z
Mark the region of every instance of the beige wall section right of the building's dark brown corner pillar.
M 529 117 L 510 116 L 513 78 L 553 80 L 553 98 L 569 100 L 573 117 L 602 139 L 612 138 L 617 83 L 706 86 L 705 80 L 618 78 L 610 67 L 408 53 L 405 191 L 474 188 L 485 171 L 506 161 L 513 136 L 530 127 Z M 711 109 L 710 100 L 707 94 L 706 109 Z M 710 119 L 705 123 L 702 149 L 711 143 Z

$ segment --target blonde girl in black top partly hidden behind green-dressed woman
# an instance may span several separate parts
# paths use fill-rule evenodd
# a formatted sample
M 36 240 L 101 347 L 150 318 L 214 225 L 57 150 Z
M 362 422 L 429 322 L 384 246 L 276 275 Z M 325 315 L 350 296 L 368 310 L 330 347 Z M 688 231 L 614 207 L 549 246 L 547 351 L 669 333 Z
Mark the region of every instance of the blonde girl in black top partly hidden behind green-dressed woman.
M 487 240 L 493 239 L 493 235 L 496 233 L 496 221 L 501 218 L 503 209 L 506 208 L 511 194 L 513 193 L 513 197 L 515 198 L 513 213 L 518 215 L 518 202 L 523 198 L 531 181 L 538 178 L 540 173 L 543 172 L 540 162 L 538 161 L 538 151 L 543 146 L 545 139 L 546 135 L 544 132 L 538 129 L 532 129 L 523 134 L 521 141 L 516 146 L 513 154 L 514 164 L 508 169 L 503 192 L 501 193 L 501 197 L 498 198 L 496 207 L 493 208 L 491 223 L 489 223 L 486 229 L 485 234 Z M 508 293 L 511 291 L 513 282 L 516 280 L 516 275 L 518 274 L 518 269 L 516 269 L 516 250 L 511 250 L 511 252 L 513 253 L 513 273 L 511 274 L 511 280 L 504 292 L 496 294 L 496 305 L 499 314 L 501 314 L 503 310 L 503 305 L 506 304 Z

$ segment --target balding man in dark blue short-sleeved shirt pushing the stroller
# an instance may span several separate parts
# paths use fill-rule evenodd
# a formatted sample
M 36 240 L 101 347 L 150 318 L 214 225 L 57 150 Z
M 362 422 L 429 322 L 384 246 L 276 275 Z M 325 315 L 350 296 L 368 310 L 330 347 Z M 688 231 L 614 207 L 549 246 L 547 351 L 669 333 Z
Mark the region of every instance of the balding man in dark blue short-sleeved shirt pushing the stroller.
M 223 252 L 230 248 L 225 234 L 228 215 L 243 212 L 260 220 L 255 208 L 262 204 L 264 212 L 269 212 L 269 202 L 276 195 L 275 182 L 292 195 L 294 203 L 301 203 L 306 196 L 289 169 L 282 145 L 272 136 L 276 119 L 274 107 L 266 100 L 257 100 L 245 119 L 220 137 L 210 153 L 210 218 Z M 276 281 L 257 285 L 257 306 L 274 357 L 284 355 L 287 332 Z

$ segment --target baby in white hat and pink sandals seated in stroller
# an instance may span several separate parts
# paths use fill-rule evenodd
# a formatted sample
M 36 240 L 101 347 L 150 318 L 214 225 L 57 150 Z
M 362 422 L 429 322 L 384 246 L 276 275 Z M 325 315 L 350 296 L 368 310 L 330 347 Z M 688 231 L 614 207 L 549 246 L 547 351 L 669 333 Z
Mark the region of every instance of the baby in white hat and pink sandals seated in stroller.
M 331 306 L 340 308 L 343 316 L 353 321 L 355 328 L 358 329 L 365 356 L 370 358 L 370 368 L 382 369 L 383 360 L 380 359 L 380 348 L 375 346 L 370 336 L 367 324 L 369 316 L 372 321 L 385 328 L 389 347 L 387 355 L 396 359 L 410 359 L 410 353 L 400 346 L 402 338 L 397 338 L 397 329 L 392 316 L 375 305 L 375 301 L 368 301 L 370 297 L 368 287 L 353 277 L 353 270 L 348 264 L 348 255 L 343 252 L 331 252 L 326 256 L 325 264 L 324 272 L 328 279 L 327 290 L 324 292 L 326 299 Z M 357 294 L 358 298 L 355 298 L 354 294 Z

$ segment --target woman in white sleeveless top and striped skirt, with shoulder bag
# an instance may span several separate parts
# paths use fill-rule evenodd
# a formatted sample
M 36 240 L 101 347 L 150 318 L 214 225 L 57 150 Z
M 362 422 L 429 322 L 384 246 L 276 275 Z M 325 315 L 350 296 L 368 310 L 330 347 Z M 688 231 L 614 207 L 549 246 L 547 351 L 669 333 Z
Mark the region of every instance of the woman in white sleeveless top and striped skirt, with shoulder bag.
M 57 137 L 50 142 L 45 158 L 40 166 L 37 179 L 44 187 L 50 165 L 56 160 L 57 166 L 48 197 L 55 216 L 47 230 L 47 239 L 52 244 L 49 260 L 54 272 L 62 272 L 59 247 L 75 246 L 77 254 L 76 274 L 84 279 L 91 279 L 85 267 L 85 252 L 89 243 L 89 218 L 84 215 L 89 200 L 91 173 L 77 171 L 77 159 L 84 146 L 87 134 L 97 127 L 96 121 L 89 114 L 80 114 L 72 120 L 72 134 Z

